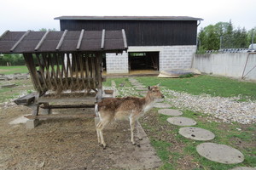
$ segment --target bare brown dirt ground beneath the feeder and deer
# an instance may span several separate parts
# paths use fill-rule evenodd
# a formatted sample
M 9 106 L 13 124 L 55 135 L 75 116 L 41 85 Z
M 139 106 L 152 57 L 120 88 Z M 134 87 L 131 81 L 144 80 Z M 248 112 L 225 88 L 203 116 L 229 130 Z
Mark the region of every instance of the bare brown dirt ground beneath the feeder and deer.
M 94 114 L 91 109 L 67 109 Z M 40 121 L 28 130 L 25 124 L 9 125 L 30 113 L 13 105 L 0 112 L 0 169 L 155 169 L 161 162 L 144 135 L 137 145 L 130 142 L 129 122 L 117 122 L 104 131 L 108 148 L 97 144 L 93 117 Z

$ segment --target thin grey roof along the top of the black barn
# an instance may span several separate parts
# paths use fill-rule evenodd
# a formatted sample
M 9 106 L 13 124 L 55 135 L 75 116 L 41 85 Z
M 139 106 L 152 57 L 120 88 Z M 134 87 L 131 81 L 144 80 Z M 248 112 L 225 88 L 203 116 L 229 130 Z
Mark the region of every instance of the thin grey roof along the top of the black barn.
M 189 16 L 60 16 L 55 20 L 202 20 Z

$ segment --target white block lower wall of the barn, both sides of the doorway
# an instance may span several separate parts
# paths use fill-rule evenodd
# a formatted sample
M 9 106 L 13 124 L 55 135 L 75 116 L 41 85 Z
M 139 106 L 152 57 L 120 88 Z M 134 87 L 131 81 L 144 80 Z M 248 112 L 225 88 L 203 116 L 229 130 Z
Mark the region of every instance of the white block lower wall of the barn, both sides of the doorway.
M 129 47 L 129 52 L 160 52 L 160 71 L 191 68 L 195 45 Z M 128 73 L 128 53 L 106 54 L 107 73 Z

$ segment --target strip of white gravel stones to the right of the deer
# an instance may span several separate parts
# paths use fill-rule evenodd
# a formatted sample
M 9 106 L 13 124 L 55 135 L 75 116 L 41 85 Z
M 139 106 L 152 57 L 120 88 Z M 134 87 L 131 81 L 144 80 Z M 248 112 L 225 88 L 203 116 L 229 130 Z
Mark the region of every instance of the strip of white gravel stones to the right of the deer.
M 239 97 L 223 98 L 211 97 L 210 95 L 192 95 L 162 89 L 166 95 L 166 102 L 173 107 L 199 111 L 218 118 L 220 122 L 240 122 L 250 124 L 256 122 L 256 102 L 238 102 Z

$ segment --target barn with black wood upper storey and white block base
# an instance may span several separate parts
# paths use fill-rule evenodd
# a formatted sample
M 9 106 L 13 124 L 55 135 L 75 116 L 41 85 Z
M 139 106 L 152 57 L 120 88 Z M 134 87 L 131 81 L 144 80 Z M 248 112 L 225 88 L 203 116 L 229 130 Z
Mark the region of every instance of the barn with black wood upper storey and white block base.
M 125 30 L 128 50 L 106 54 L 108 74 L 191 67 L 201 18 L 189 16 L 60 16 L 61 31 Z

